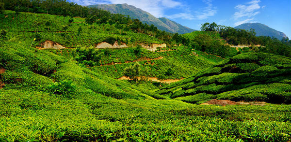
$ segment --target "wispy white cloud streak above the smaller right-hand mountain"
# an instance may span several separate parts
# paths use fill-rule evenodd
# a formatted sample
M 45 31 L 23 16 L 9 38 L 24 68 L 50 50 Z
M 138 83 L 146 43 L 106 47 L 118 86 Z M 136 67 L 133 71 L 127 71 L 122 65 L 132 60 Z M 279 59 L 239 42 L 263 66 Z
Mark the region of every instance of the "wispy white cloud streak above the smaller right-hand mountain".
M 233 19 L 237 21 L 235 26 L 248 23 L 254 20 L 254 16 L 259 14 L 259 9 L 264 8 L 259 5 L 260 0 L 252 0 L 245 4 L 239 4 L 235 7 L 238 11 L 233 14 Z M 247 18 L 247 19 L 246 19 Z

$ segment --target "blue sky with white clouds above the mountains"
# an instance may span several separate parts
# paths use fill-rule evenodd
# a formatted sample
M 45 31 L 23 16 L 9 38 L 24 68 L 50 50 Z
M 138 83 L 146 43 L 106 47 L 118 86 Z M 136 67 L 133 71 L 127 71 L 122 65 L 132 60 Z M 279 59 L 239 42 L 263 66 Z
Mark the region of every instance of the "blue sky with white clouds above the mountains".
M 68 0 L 80 5 L 128 3 L 155 17 L 200 30 L 205 22 L 230 27 L 262 23 L 291 38 L 291 0 Z

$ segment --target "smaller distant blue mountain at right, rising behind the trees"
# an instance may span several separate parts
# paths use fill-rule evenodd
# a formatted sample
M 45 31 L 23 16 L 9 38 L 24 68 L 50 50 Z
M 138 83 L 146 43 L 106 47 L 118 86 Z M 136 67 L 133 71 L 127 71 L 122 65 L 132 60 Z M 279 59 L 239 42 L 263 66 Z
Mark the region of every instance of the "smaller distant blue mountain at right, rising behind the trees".
M 282 38 L 286 38 L 287 36 L 285 33 L 275 30 L 274 28 L 270 28 L 267 25 L 260 24 L 260 23 L 245 23 L 242 25 L 239 25 L 235 28 L 250 30 L 251 28 L 255 29 L 257 36 L 269 36 L 269 37 L 275 37 L 279 40 Z

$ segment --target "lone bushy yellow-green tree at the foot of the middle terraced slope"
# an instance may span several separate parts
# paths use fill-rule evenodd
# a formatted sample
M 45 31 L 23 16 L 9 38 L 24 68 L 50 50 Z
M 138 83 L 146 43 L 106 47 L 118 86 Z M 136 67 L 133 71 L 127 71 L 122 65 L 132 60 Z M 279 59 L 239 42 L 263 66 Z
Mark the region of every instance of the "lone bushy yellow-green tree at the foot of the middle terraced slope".
M 131 65 L 124 69 L 123 74 L 126 77 L 129 77 L 131 80 L 137 82 L 138 77 L 141 73 L 141 64 L 139 62 L 136 62 L 134 65 Z

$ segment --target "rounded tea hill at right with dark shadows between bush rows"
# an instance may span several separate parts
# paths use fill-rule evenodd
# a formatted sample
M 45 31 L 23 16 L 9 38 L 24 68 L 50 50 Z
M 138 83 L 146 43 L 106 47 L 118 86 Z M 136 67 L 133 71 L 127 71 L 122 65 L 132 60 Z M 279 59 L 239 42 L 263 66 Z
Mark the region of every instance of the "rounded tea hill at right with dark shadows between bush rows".
M 210 99 L 291 103 L 291 58 L 245 53 L 158 91 L 172 99 L 203 103 Z

